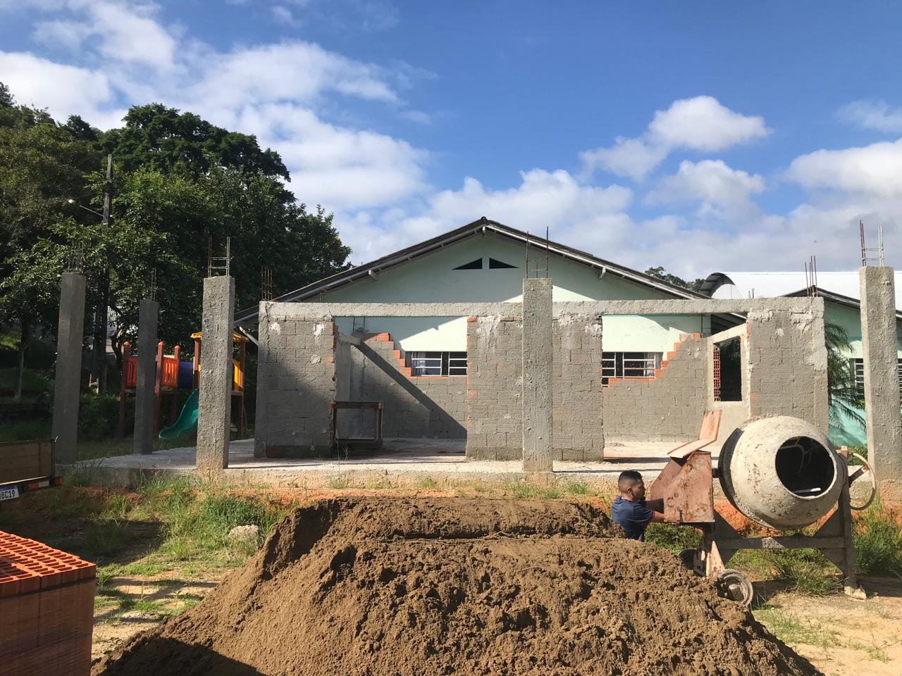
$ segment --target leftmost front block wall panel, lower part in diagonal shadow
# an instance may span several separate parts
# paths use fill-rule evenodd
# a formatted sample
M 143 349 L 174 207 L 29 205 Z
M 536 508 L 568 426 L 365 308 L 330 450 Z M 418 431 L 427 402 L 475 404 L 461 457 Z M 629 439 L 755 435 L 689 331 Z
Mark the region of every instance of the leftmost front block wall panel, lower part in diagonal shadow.
M 254 454 L 331 452 L 336 326 L 331 317 L 280 315 L 262 304 Z

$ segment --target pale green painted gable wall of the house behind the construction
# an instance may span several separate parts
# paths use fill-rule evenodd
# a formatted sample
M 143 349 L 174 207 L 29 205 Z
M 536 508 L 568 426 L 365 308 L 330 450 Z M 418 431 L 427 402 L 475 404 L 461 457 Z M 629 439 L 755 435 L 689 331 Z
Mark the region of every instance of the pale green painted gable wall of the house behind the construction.
M 483 269 L 455 269 L 477 258 Z M 489 259 L 513 269 L 489 269 Z M 530 263 L 544 266 L 545 253 L 529 248 Z M 520 242 L 492 233 L 476 235 L 379 272 L 379 279 L 360 279 L 311 300 L 332 302 L 429 303 L 518 302 L 522 294 L 526 248 Z M 548 274 L 554 280 L 554 299 L 617 300 L 667 298 L 648 288 L 572 260 L 549 254 Z M 357 320 L 358 328 L 362 319 Z M 604 320 L 603 349 L 609 352 L 667 352 L 680 333 L 700 333 L 700 315 L 609 316 Z M 350 333 L 354 319 L 336 320 L 339 331 Z M 408 351 L 465 351 L 466 320 L 462 317 L 367 317 L 365 331 L 391 333 Z

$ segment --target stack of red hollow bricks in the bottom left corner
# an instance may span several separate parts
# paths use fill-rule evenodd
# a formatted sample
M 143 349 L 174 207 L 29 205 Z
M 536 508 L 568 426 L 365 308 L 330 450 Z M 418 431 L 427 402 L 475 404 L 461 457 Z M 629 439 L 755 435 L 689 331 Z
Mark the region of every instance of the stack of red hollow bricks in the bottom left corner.
M 96 567 L 0 531 L 0 676 L 86 676 Z

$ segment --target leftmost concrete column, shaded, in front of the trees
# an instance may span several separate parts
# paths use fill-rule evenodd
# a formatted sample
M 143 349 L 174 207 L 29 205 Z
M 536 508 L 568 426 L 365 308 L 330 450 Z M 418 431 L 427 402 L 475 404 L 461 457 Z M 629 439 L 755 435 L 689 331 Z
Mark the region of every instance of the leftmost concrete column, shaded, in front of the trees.
M 85 278 L 64 272 L 60 284 L 56 377 L 53 385 L 53 436 L 56 461 L 78 458 L 78 395 L 81 392 L 81 346 L 85 332 Z

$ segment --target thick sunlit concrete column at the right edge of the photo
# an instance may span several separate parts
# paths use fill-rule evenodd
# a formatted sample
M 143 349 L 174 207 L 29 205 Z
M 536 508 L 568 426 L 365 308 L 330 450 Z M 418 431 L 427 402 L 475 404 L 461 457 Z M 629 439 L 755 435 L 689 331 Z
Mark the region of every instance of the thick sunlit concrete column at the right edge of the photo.
M 884 498 L 902 498 L 896 293 L 892 268 L 866 267 L 861 281 L 861 349 L 868 458 Z

